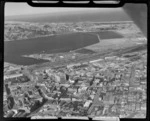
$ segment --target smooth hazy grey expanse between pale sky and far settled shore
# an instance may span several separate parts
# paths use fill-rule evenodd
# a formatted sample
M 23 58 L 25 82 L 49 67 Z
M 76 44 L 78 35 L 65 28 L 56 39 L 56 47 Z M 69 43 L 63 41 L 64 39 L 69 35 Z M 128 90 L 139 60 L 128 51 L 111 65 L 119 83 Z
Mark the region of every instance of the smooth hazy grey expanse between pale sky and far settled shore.
M 6 16 L 6 21 L 24 21 L 24 22 L 104 22 L 104 21 L 130 21 L 131 19 L 123 11 L 81 11 L 81 12 L 60 12 L 44 13 L 33 15 Z

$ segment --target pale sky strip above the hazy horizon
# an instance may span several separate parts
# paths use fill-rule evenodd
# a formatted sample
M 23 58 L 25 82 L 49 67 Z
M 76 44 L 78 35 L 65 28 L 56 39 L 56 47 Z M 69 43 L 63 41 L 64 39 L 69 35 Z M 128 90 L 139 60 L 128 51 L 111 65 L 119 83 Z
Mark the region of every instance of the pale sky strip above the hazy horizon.
M 5 4 L 5 15 L 25 15 L 25 14 L 38 14 L 38 13 L 55 13 L 55 12 L 65 12 L 65 11 L 95 11 L 99 10 L 101 12 L 105 11 L 122 11 L 122 8 L 41 8 L 41 7 L 31 7 L 27 3 L 6 3 Z

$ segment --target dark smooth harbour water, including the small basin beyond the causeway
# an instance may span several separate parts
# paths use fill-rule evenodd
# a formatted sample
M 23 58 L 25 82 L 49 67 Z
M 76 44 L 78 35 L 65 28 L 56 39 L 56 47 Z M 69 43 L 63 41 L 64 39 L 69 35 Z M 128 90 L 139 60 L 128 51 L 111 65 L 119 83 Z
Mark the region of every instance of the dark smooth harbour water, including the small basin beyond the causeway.
M 120 38 L 115 32 L 98 33 L 101 39 Z M 23 57 L 22 55 L 40 53 L 69 52 L 95 43 L 99 39 L 96 34 L 70 33 L 57 36 L 46 36 L 27 40 L 5 41 L 4 61 L 18 65 L 32 65 L 47 62 L 47 60 Z

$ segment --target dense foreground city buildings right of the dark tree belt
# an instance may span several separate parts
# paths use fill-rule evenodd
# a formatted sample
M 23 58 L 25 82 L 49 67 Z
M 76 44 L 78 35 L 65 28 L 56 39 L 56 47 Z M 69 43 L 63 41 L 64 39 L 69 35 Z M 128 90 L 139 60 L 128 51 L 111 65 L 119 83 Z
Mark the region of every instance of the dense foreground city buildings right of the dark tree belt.
M 146 55 L 142 55 L 141 59 L 130 61 L 111 56 L 43 69 L 35 71 L 33 80 L 20 87 L 38 98 L 34 83 L 39 83 L 44 93 L 54 100 L 46 103 L 35 116 L 144 117 L 147 99 L 145 58 Z

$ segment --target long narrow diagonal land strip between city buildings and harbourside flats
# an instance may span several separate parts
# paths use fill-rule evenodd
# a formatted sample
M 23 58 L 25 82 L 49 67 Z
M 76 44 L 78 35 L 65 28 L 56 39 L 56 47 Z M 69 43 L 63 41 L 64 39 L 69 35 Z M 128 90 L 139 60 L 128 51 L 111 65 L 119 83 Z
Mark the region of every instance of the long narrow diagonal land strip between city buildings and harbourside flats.
M 32 66 L 29 66 L 28 69 L 32 72 L 32 71 L 35 71 L 35 70 L 42 70 L 42 69 L 45 69 L 45 68 L 59 68 L 59 67 L 65 67 L 66 65 L 70 64 L 70 63 L 82 63 L 82 62 L 87 62 L 87 61 L 90 61 L 90 60 L 94 60 L 94 59 L 97 59 L 97 58 L 104 58 L 104 57 L 107 57 L 107 56 L 121 56 L 122 54 L 125 54 L 125 53 L 130 53 L 130 52 L 137 52 L 138 51 L 141 51 L 141 50 L 146 50 L 147 49 L 147 44 L 143 44 L 143 45 L 136 45 L 136 46 L 132 46 L 132 47 L 127 47 L 127 48 L 124 48 L 124 49 L 117 49 L 117 50 L 107 50 L 107 51 L 104 51 L 102 53 L 96 53 L 96 54 L 92 54 L 91 56 L 88 56 L 88 57 L 84 57 L 84 58 L 80 58 L 80 59 L 76 59 L 76 60 L 68 60 L 68 61 L 61 61 L 61 62 L 53 62 L 53 63 L 50 63 L 50 62 L 46 62 L 46 63 L 42 63 L 42 64 L 38 64 L 38 65 L 32 65 Z

